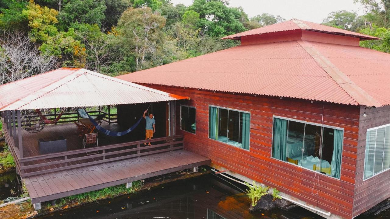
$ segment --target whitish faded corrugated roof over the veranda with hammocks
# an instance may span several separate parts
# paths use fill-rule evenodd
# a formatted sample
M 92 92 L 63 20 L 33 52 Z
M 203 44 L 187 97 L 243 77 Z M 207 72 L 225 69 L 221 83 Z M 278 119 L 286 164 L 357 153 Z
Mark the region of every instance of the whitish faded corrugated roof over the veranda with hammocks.
M 87 69 L 60 68 L 0 86 L 0 111 L 187 99 Z

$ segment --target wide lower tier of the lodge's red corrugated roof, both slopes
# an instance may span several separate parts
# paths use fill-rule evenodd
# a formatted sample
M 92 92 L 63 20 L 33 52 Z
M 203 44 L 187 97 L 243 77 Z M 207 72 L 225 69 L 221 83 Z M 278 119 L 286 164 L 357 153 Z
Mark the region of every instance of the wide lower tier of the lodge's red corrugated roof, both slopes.
M 389 65 L 388 53 L 300 40 L 236 46 L 117 78 L 378 107 L 390 104 Z

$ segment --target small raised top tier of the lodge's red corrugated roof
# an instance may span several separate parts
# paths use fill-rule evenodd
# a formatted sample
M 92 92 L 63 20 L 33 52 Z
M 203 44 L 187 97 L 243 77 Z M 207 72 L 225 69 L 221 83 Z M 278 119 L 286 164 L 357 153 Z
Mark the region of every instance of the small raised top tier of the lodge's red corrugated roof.
M 370 35 L 365 34 L 359 34 L 348 30 L 342 30 L 339 28 L 334 28 L 332 26 L 326 26 L 321 25 L 317 23 L 312 23 L 309 21 L 302 21 L 302 20 L 289 20 L 282 23 L 277 23 L 274 25 L 269 26 L 263 26 L 261 28 L 248 30 L 245 32 L 241 32 L 238 34 L 229 35 L 226 37 L 223 37 L 222 39 L 241 39 L 243 36 L 248 35 L 257 35 L 257 34 L 266 34 L 266 33 L 273 33 L 273 32 L 282 32 L 282 31 L 288 31 L 288 30 L 312 30 L 317 32 L 324 32 L 324 33 L 330 33 L 330 34 L 338 34 L 338 35 L 346 35 L 351 37 L 358 37 L 360 40 L 370 40 L 370 39 L 379 39 L 378 37 L 373 37 Z

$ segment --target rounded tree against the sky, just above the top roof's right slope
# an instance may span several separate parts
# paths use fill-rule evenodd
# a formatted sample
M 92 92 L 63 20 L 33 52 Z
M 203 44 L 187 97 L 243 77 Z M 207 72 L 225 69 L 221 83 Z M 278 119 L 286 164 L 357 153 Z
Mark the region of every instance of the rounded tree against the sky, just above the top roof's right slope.
M 357 14 L 354 11 L 333 11 L 328 14 L 328 17 L 324 18 L 323 24 L 344 30 L 351 30 L 353 23 L 356 21 L 356 17 Z

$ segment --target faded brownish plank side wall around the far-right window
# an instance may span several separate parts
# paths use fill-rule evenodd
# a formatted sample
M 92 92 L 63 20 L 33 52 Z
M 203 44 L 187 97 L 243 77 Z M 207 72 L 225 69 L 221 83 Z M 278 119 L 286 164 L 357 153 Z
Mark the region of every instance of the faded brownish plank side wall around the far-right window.
M 363 117 L 363 113 L 367 117 Z M 367 129 L 390 124 L 390 106 L 360 109 L 360 125 L 358 138 L 358 159 L 356 164 L 354 216 L 362 214 L 379 202 L 390 197 L 390 170 L 363 181 L 364 155 Z

